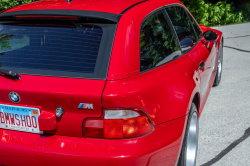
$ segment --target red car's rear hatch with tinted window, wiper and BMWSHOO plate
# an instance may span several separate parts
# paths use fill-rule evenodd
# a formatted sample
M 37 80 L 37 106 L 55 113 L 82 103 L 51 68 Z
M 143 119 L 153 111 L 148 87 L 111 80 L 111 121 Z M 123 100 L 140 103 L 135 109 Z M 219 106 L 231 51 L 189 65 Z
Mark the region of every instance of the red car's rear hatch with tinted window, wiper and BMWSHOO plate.
M 116 24 L 72 16 L 12 18 L 0 15 L 0 128 L 33 132 L 34 115 L 41 133 L 82 137 L 84 119 L 102 116 Z M 64 111 L 60 117 L 57 108 Z M 26 109 L 27 116 L 20 112 Z

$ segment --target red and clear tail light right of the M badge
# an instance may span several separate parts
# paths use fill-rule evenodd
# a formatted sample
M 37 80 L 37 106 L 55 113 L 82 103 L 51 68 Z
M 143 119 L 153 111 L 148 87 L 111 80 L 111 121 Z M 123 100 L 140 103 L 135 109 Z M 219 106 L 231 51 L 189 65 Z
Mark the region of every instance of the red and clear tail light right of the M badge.
M 139 109 L 107 109 L 103 118 L 87 119 L 83 127 L 85 138 L 104 139 L 136 138 L 152 130 L 149 117 Z

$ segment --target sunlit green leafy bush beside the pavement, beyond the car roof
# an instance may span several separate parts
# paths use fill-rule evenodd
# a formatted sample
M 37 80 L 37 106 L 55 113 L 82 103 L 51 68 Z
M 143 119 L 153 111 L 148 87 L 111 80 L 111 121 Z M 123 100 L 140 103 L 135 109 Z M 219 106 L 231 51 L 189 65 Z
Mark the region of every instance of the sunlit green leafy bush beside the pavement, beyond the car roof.
M 181 0 L 199 24 L 213 26 L 226 25 L 231 23 L 241 23 L 243 21 L 242 12 L 237 12 L 233 3 L 226 0 L 215 4 L 208 0 Z

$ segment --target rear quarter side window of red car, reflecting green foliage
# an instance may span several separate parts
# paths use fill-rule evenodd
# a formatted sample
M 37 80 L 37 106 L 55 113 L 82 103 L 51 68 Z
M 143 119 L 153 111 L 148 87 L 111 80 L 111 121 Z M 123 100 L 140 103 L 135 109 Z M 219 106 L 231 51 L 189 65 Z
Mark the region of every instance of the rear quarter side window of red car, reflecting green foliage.
M 168 26 L 162 11 L 142 24 L 140 34 L 140 70 L 160 66 L 181 56 L 178 40 Z

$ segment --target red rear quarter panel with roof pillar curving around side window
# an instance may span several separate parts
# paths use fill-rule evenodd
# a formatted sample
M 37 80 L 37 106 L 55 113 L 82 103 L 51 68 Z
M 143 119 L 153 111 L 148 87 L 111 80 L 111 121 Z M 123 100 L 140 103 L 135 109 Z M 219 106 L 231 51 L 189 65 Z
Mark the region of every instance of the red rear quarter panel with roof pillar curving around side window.
M 165 5 L 163 1 L 146 1 L 121 17 L 102 98 L 104 108 L 143 109 L 155 125 L 185 116 L 199 92 L 199 75 L 186 56 L 140 74 L 141 23 Z

